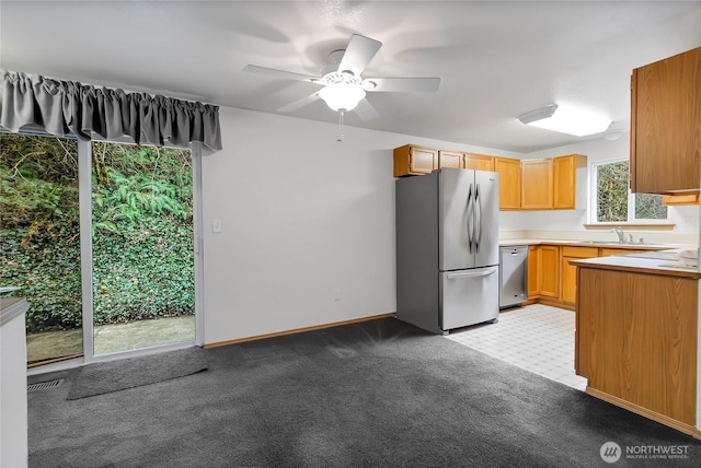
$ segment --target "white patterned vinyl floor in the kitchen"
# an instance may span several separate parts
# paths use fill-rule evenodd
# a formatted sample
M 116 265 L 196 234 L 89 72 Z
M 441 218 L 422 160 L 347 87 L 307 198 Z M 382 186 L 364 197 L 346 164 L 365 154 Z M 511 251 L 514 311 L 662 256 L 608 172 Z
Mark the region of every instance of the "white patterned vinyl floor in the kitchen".
M 574 373 L 574 312 L 533 304 L 503 311 L 496 324 L 476 325 L 446 338 L 584 391 Z

